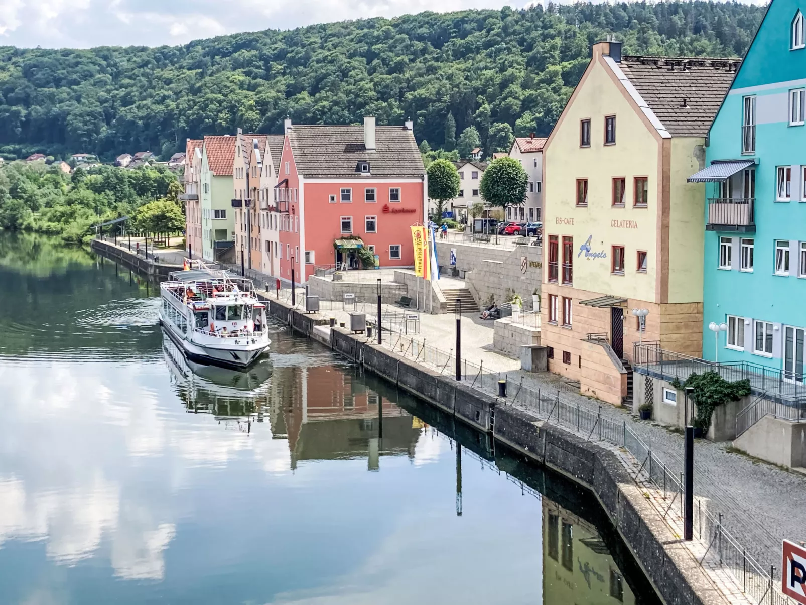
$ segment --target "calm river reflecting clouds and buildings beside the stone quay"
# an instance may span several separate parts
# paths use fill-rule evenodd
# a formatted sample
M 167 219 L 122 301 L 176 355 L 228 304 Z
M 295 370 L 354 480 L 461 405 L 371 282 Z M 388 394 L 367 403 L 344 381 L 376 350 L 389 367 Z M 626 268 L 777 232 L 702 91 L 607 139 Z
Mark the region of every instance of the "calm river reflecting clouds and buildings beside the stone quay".
M 591 494 L 272 326 L 189 364 L 159 287 L 0 232 L 0 603 L 658 603 Z

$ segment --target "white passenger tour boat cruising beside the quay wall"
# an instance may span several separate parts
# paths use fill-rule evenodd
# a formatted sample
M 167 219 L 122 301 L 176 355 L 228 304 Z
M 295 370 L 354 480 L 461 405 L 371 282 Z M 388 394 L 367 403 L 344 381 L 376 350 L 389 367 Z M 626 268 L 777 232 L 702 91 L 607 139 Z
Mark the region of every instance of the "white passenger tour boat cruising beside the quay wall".
M 249 279 L 201 261 L 160 284 L 160 323 L 193 361 L 245 368 L 268 348 L 266 306 Z

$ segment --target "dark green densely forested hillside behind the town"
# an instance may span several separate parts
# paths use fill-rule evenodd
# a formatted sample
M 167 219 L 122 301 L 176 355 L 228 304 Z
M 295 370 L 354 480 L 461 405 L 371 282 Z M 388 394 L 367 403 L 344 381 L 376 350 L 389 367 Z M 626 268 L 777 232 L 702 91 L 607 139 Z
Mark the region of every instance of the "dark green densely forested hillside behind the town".
M 764 10 L 737 2 L 549 4 L 175 47 L 2 47 L 0 152 L 110 158 L 150 149 L 164 157 L 189 136 L 281 131 L 286 115 L 354 123 L 372 114 L 379 123 L 413 118 L 418 141 L 432 148 L 452 148 L 475 126 L 492 151 L 512 129 L 550 131 L 590 45 L 605 35 L 624 40 L 627 54 L 741 56 Z

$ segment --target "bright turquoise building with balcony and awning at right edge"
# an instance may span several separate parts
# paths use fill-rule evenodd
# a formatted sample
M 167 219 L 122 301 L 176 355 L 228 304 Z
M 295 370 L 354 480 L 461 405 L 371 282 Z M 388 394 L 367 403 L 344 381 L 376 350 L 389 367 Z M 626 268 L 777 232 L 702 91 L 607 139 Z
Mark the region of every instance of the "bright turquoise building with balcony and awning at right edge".
M 791 394 L 804 392 L 804 12 L 806 0 L 772 0 L 689 178 L 706 182 L 703 357 Z

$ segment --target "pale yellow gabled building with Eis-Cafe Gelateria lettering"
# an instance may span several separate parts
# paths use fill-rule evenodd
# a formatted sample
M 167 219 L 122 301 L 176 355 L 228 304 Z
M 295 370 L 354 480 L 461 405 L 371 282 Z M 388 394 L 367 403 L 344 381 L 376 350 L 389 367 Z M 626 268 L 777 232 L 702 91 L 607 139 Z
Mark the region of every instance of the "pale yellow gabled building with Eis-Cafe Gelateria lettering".
M 633 343 L 699 356 L 704 144 L 735 60 L 592 48 L 543 152 L 542 344 L 580 391 L 631 403 Z

